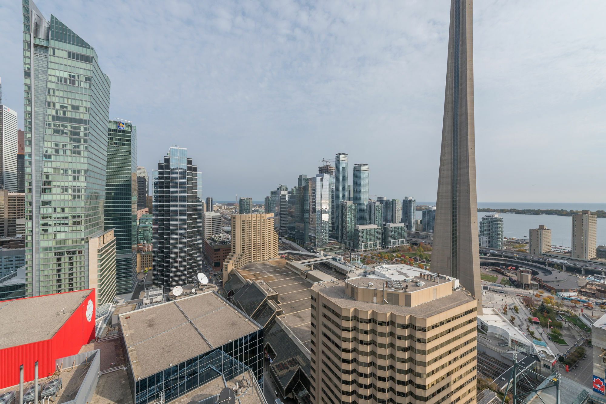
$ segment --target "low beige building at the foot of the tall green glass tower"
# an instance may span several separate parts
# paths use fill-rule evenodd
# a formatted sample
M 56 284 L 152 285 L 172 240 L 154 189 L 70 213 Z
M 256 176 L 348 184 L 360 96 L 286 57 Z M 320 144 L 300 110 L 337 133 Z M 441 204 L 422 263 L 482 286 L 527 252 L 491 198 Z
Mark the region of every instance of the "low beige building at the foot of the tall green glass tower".
M 88 236 L 88 287 L 95 288 L 96 307 L 116 296 L 116 237 L 113 229 Z

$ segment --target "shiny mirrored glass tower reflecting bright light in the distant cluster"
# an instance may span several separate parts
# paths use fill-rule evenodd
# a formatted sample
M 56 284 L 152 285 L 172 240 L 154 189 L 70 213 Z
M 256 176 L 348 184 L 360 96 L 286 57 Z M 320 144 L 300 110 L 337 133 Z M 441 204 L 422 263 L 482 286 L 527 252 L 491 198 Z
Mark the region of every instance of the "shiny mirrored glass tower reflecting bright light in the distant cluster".
M 330 234 L 330 175 L 308 178 L 308 190 L 309 243 L 312 247 L 325 246 Z

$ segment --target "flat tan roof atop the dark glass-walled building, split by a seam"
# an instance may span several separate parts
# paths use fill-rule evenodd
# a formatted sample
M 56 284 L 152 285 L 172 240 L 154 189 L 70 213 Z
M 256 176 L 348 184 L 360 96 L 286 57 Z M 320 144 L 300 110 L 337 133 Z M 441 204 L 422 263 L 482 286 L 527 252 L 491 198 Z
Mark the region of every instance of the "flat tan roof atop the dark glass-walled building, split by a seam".
M 261 328 L 215 292 L 130 311 L 119 321 L 135 379 Z

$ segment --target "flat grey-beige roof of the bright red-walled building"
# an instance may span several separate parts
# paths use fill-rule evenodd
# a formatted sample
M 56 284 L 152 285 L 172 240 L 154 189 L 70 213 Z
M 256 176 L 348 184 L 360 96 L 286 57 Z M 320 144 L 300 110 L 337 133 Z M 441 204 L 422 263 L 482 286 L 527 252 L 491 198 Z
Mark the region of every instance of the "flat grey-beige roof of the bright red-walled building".
M 0 302 L 0 349 L 52 338 L 91 290 Z

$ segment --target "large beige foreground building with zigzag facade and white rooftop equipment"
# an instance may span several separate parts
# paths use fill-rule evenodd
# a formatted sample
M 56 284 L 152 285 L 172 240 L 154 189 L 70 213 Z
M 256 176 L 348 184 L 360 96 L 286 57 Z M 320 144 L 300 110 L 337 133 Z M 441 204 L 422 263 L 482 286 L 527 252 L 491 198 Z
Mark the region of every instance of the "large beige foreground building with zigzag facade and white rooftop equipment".
M 313 402 L 475 404 L 477 310 L 458 279 L 407 266 L 314 284 Z

